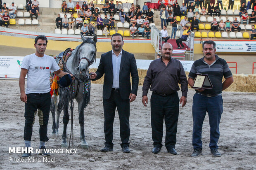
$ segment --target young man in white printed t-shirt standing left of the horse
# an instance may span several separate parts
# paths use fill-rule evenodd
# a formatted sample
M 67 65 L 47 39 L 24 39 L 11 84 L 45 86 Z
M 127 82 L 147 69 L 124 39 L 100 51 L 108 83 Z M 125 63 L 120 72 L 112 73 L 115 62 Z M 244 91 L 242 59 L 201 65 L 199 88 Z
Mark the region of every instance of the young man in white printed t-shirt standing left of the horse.
M 45 55 L 47 38 L 39 35 L 35 39 L 36 53 L 25 56 L 21 63 L 21 72 L 19 76 L 20 99 L 25 102 L 25 127 L 24 140 L 25 146 L 31 147 L 31 136 L 33 131 L 33 122 L 37 109 L 42 111 L 39 116 L 39 136 L 40 136 L 40 154 L 49 156 L 45 150 L 47 137 L 47 124 L 50 113 L 51 95 L 50 95 L 50 70 L 53 70 L 59 77 L 63 77 L 66 72 L 59 69 L 55 59 Z M 27 75 L 27 87 L 25 93 L 25 77 Z M 73 75 L 71 75 L 73 76 Z M 28 158 L 31 154 L 24 153 L 22 158 Z

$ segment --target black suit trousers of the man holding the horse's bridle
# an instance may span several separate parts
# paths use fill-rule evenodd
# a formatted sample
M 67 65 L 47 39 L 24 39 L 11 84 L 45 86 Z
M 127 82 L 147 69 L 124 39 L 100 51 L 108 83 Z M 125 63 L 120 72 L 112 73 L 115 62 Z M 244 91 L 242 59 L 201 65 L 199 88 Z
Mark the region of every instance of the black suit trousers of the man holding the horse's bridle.
M 119 91 L 112 89 L 109 99 L 103 99 L 104 108 L 104 134 L 105 134 L 105 146 L 113 147 L 113 122 L 115 118 L 115 111 L 117 108 L 120 121 L 120 137 L 121 147 L 129 146 L 130 137 L 130 101 L 129 99 L 123 100 Z

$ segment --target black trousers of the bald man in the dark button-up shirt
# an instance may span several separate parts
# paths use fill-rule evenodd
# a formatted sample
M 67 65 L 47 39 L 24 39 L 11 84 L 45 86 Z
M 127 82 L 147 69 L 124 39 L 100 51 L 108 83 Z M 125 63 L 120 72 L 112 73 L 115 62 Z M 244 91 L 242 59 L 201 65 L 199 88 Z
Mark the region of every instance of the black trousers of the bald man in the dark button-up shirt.
M 173 93 L 166 97 L 152 93 L 151 100 L 151 126 L 154 147 L 161 148 L 163 138 L 163 123 L 166 126 L 165 147 L 175 148 L 179 117 L 179 96 Z

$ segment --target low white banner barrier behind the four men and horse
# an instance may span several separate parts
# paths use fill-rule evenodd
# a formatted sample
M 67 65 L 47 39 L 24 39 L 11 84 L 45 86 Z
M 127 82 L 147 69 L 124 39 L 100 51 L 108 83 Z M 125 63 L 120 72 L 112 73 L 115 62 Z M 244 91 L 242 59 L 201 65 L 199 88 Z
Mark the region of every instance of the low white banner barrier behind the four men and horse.
M 0 56 L 0 77 L 19 78 L 20 67 L 24 57 L 20 56 Z M 159 59 L 157 59 L 159 60 Z M 153 60 L 136 60 L 137 68 L 147 70 Z M 194 61 L 180 61 L 185 71 L 189 72 Z M 97 68 L 100 58 L 90 65 L 90 68 Z

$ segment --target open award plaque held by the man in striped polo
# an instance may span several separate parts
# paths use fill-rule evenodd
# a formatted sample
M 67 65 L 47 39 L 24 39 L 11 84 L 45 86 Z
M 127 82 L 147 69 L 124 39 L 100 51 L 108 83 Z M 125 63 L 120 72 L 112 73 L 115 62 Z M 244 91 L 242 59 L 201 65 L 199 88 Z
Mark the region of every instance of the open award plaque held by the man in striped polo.
M 211 88 L 213 88 L 213 85 L 211 84 L 211 81 L 207 74 L 197 73 L 197 77 L 194 79 L 194 85 L 192 88 L 194 88 L 194 89 L 211 89 Z

